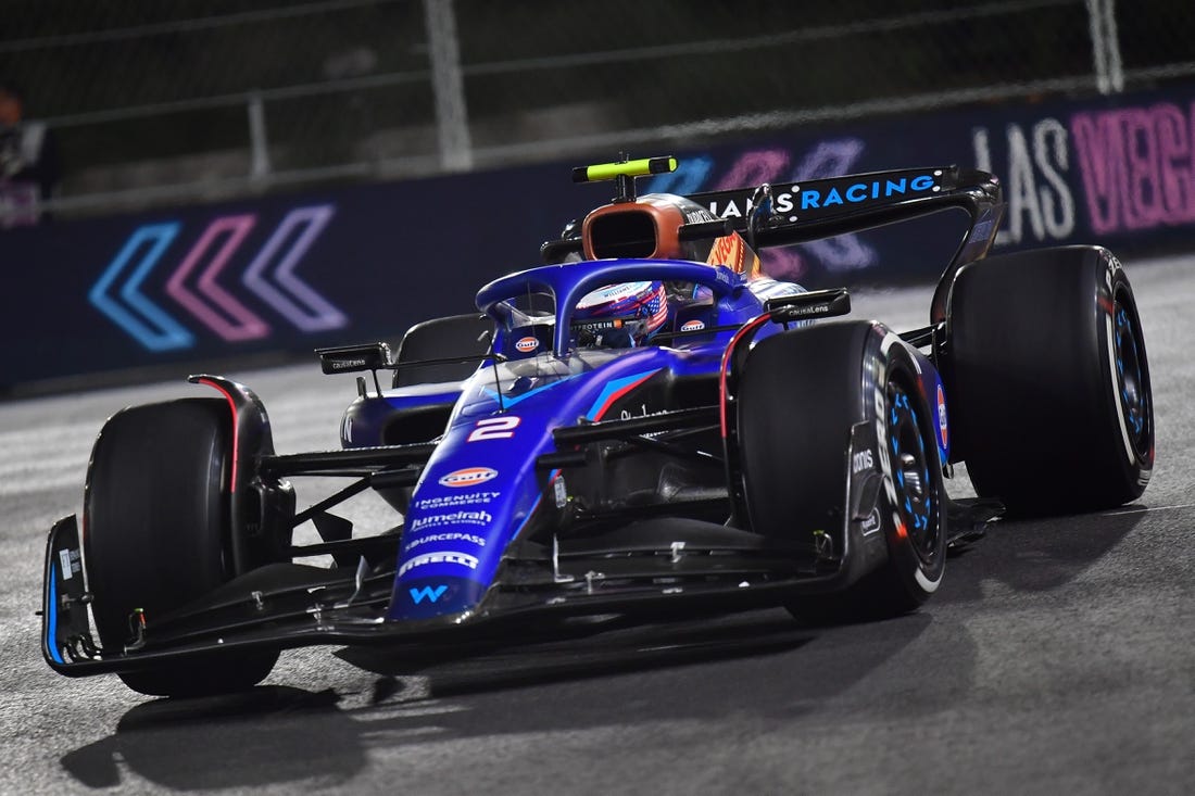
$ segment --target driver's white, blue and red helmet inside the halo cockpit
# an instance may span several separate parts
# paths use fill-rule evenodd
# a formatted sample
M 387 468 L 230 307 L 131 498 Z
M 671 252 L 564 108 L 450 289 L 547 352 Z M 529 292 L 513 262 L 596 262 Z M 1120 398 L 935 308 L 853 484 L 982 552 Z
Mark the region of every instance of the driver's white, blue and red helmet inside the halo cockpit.
M 668 320 L 664 283 L 623 282 L 586 295 L 572 313 L 572 323 L 593 336 L 598 345 L 643 345 Z

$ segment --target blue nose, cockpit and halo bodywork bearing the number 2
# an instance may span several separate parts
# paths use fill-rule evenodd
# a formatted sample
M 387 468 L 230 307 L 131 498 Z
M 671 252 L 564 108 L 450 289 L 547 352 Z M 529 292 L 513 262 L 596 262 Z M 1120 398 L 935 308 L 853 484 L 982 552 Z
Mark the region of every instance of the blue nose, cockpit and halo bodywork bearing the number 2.
M 642 278 L 693 284 L 691 294 L 707 294 L 705 301 L 675 308 L 669 325 L 697 327 L 697 333 L 643 348 L 578 347 L 570 320 L 581 298 Z M 514 301 L 528 293 L 552 296 L 554 313 L 529 317 L 516 310 Z M 386 429 L 396 416 L 452 404 L 406 507 L 387 614 L 393 620 L 472 611 L 498 578 L 508 545 L 537 519 L 551 521 L 566 490 L 559 488 L 558 501 L 559 471 L 537 467 L 537 459 L 556 451 L 553 429 L 675 409 L 670 385 L 716 384 L 736 327 L 765 310 L 741 274 L 660 259 L 535 268 L 485 286 L 477 304 L 495 320 L 494 350 L 502 356 L 485 360 L 460 384 L 362 397 L 343 424 L 345 447 L 385 445 L 392 442 Z M 711 331 L 703 333 L 705 329 Z M 758 337 L 778 331 L 780 326 L 768 324 Z M 929 360 L 921 363 L 924 388 L 932 396 L 940 379 Z M 940 437 L 939 447 L 945 461 Z

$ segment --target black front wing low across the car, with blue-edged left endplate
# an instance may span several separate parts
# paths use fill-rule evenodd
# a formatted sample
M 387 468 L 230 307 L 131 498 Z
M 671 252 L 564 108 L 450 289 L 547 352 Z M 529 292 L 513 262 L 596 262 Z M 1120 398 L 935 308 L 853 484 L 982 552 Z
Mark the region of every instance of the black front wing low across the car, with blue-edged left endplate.
M 464 647 L 484 638 L 516 639 L 520 631 L 578 616 L 619 613 L 648 622 L 777 606 L 799 594 L 841 588 L 857 576 L 847 571 L 852 567 L 832 562 L 820 571 L 799 571 L 792 563 L 795 551 L 697 520 L 663 518 L 621 535 L 687 541 L 574 551 L 523 545 L 504 559 L 498 581 L 476 612 L 418 622 L 385 618 L 392 567 L 375 571 L 364 559 L 355 571 L 269 564 L 170 616 L 135 612 L 128 643 L 112 650 L 102 649 L 91 629 L 91 594 L 72 515 L 54 525 L 47 541 L 42 653 L 56 672 L 82 676 L 262 648 Z

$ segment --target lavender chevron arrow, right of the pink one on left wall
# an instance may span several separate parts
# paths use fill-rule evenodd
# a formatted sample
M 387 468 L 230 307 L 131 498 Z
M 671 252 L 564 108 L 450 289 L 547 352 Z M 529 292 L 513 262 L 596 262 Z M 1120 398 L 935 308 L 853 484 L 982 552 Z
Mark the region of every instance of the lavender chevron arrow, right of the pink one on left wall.
M 315 238 L 327 226 L 335 212 L 336 207 L 332 204 L 315 204 L 290 210 L 270 235 L 270 239 L 262 246 L 262 251 L 245 269 L 241 277 L 245 287 L 306 332 L 339 329 L 349 320 L 343 312 L 294 274 L 299 261 L 315 243 Z M 274 283 L 268 282 L 265 278 L 266 267 L 292 237 L 294 229 L 301 225 L 306 226 L 295 235 L 294 243 L 282 255 L 277 268 L 274 269 Z

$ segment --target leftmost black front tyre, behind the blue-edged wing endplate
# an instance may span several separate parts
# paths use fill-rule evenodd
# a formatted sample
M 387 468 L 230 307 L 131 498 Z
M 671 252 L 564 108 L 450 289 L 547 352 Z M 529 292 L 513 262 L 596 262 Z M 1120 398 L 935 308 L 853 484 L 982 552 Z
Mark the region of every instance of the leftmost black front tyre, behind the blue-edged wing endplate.
M 104 425 L 87 472 L 84 556 L 105 649 L 129 643 L 135 610 L 152 626 L 232 576 L 231 452 L 232 423 L 219 399 L 135 406 Z M 227 693 L 261 682 L 277 657 L 276 650 L 213 654 L 120 676 L 151 696 Z

